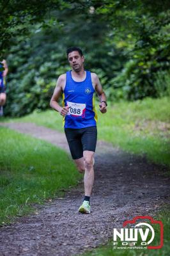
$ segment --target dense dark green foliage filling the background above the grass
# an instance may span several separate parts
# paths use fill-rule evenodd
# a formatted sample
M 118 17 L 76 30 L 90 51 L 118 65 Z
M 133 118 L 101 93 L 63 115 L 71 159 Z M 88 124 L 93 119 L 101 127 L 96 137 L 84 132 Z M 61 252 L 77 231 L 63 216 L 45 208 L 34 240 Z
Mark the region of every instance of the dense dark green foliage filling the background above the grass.
M 169 1 L 25 2 L 2 6 L 8 15 L 1 53 L 8 53 L 10 67 L 6 115 L 49 108 L 72 45 L 82 48 L 86 69 L 98 74 L 110 100 L 169 95 Z

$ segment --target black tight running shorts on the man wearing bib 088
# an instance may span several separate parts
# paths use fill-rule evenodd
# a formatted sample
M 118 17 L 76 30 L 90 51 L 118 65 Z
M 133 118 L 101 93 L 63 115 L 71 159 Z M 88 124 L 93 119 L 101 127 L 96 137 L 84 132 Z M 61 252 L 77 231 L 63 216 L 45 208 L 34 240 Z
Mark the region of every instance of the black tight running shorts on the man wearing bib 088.
M 73 159 L 81 158 L 84 150 L 95 152 L 97 145 L 96 126 L 82 129 L 65 128 L 65 134 Z

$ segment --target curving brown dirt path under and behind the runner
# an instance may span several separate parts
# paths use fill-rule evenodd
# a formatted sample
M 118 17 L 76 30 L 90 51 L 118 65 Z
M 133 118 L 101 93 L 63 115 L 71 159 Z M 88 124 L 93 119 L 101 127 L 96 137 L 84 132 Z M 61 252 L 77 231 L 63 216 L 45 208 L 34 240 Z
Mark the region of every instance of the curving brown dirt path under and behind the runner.
M 65 136 L 34 124 L 1 124 L 31 134 L 68 150 Z M 80 255 L 104 244 L 112 229 L 137 215 L 154 215 L 169 196 L 166 169 L 142 157 L 127 154 L 98 142 L 91 214 L 79 214 L 83 184 L 65 198 L 37 206 L 39 214 L 20 218 L 1 228 L 0 255 Z

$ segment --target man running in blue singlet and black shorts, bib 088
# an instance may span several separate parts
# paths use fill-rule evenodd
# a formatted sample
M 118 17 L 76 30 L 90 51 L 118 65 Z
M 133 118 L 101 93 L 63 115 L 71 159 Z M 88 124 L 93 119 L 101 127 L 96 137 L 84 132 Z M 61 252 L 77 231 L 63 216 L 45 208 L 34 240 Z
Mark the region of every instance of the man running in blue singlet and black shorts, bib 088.
M 97 113 L 93 93 L 100 98 L 100 111 L 107 111 L 105 93 L 97 74 L 84 70 L 84 56 L 78 47 L 70 47 L 67 58 L 72 70 L 59 76 L 50 100 L 51 108 L 63 116 L 66 139 L 79 172 L 84 172 L 84 201 L 79 212 L 90 213 L 89 198 L 94 181 L 94 153 L 97 144 Z M 63 106 L 59 97 L 63 94 Z

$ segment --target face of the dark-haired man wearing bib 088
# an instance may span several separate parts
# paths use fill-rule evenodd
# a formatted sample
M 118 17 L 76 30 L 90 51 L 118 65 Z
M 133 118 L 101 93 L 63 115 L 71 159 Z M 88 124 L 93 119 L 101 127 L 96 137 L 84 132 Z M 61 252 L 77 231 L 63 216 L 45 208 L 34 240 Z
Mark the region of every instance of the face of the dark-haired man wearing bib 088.
M 68 61 L 75 72 L 80 72 L 83 67 L 84 56 L 81 56 L 77 51 L 73 51 L 68 54 Z

